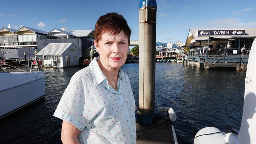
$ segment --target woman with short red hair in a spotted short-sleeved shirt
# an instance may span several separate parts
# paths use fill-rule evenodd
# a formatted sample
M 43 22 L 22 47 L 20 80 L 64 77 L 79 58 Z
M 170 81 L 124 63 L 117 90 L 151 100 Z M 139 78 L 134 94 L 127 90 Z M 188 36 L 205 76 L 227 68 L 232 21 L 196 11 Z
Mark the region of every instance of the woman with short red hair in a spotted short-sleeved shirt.
M 131 30 L 117 13 L 95 24 L 100 57 L 76 72 L 54 116 L 63 120 L 61 140 L 71 143 L 136 143 L 135 101 L 127 74 L 121 70 Z

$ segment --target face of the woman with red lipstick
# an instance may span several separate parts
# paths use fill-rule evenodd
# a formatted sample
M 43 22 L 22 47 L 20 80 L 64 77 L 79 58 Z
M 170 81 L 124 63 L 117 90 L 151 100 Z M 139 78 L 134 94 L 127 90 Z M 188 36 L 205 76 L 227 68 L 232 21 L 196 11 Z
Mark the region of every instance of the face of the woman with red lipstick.
M 98 42 L 94 42 L 100 55 L 100 62 L 107 70 L 119 70 L 124 65 L 129 49 L 128 37 L 123 31 L 116 35 L 103 33 Z

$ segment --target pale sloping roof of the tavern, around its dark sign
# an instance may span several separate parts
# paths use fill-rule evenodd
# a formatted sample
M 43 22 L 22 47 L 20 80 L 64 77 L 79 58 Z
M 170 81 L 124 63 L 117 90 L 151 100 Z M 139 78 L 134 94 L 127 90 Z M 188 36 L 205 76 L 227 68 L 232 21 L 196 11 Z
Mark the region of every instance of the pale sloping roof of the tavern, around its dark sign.
M 198 36 L 198 30 L 245 30 L 245 36 L 241 37 L 256 37 L 256 28 L 191 28 L 190 31 L 196 41 L 208 40 L 208 36 Z M 232 36 L 211 36 L 220 39 L 228 39 Z

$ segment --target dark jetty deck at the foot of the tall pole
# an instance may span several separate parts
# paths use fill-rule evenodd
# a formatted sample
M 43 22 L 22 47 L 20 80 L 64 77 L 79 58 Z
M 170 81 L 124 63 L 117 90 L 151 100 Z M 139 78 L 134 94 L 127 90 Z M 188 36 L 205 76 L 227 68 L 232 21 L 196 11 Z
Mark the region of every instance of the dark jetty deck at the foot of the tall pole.
M 166 122 L 165 119 L 156 120 L 158 127 L 164 122 Z M 160 128 L 164 127 L 165 124 L 163 124 Z M 136 124 L 136 131 L 137 144 L 178 144 L 174 127 L 170 124 L 167 125 L 165 129 L 159 129 L 156 127 L 148 128 Z

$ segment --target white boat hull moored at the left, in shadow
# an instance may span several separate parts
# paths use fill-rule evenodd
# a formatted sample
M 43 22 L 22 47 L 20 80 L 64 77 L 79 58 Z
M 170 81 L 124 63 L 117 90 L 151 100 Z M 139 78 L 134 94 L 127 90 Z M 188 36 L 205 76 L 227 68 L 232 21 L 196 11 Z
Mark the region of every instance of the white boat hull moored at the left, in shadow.
M 0 118 L 45 95 L 44 72 L 0 73 Z

